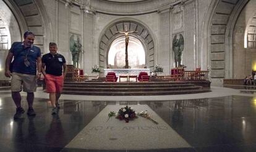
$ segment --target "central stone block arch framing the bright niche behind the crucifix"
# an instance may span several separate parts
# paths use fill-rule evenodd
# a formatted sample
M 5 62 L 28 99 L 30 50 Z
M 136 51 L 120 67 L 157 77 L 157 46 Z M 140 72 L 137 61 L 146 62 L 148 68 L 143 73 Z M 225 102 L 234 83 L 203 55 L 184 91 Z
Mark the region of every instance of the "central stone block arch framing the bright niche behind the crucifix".
M 145 48 L 146 66 L 150 68 L 150 70 L 153 70 L 155 43 L 152 34 L 142 23 L 132 20 L 131 18 L 122 18 L 121 20 L 119 19 L 109 24 L 100 36 L 99 62 L 101 71 L 104 71 L 103 69 L 107 66 L 108 50 L 112 42 L 114 39 L 123 36 L 123 34 L 116 32 L 124 31 L 124 26 L 127 26 L 130 31 L 138 31 L 137 33 L 130 33 L 130 36 L 133 36 L 142 42 L 143 47 Z

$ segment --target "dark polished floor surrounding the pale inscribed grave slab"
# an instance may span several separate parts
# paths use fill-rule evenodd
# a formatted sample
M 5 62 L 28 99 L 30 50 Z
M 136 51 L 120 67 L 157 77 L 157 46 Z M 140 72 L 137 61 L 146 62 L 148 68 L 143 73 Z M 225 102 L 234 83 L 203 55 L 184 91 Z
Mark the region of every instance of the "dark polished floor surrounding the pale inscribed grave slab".
M 22 100 L 25 101 L 25 97 L 22 97 Z M 15 106 L 11 97 L 0 97 L 1 151 L 256 151 L 256 98 L 254 97 L 232 95 L 157 102 L 82 100 L 61 100 L 60 102 L 59 115 L 52 116 L 48 100 L 35 98 L 36 116 L 28 117 L 27 114 L 23 114 L 22 119 L 14 121 L 12 117 Z M 134 150 L 132 146 L 120 150 L 104 148 L 92 150 L 84 146 L 69 148 L 67 145 L 90 122 L 96 122 L 95 119 L 101 116 L 99 113 L 103 112 L 103 116 L 105 114 L 105 118 L 108 119 L 108 110 L 105 108 L 109 105 L 111 107 L 147 105 L 153 111 L 152 113 L 158 115 L 159 119 L 163 119 L 164 123 L 168 124 L 190 146 L 183 148 L 170 146 L 149 150 L 147 148 Z M 22 102 L 22 106 L 27 110 L 26 102 Z M 125 126 L 135 122 L 122 123 Z M 129 137 L 127 142 L 129 140 L 136 139 Z M 156 137 L 152 136 L 147 141 L 153 143 L 155 140 Z M 174 137 L 173 140 L 176 138 Z

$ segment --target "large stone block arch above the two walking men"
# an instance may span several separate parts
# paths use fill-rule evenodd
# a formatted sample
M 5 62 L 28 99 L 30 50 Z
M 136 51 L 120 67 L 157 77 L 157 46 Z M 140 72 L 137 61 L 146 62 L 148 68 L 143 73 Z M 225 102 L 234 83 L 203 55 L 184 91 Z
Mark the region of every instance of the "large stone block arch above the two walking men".
M 3 1 L 11 9 L 19 24 L 20 39 L 23 39 L 22 33 L 30 30 L 36 36 L 34 44 L 40 47 L 42 52 L 48 50 L 48 45 L 45 44 L 53 39 L 53 33 L 50 33 L 52 31 L 51 22 L 49 22 L 43 2 L 33 0 Z M 11 37 L 15 38 L 15 35 L 11 34 Z

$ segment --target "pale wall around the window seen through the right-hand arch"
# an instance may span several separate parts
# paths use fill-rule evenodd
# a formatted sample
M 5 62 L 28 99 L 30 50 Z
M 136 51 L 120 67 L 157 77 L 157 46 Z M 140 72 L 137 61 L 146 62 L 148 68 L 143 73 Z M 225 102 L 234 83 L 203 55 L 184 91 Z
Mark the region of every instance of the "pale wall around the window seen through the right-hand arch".
M 233 78 L 242 79 L 252 74 L 256 63 L 256 47 L 247 46 L 247 34 L 254 33 L 256 25 L 256 1 L 249 1 L 244 7 L 233 31 Z

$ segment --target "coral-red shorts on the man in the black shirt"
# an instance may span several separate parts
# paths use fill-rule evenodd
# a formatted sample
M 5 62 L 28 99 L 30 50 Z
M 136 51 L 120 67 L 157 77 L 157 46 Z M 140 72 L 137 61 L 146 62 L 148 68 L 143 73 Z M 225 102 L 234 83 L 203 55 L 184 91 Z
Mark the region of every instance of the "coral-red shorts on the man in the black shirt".
M 51 74 L 46 74 L 45 76 L 46 92 L 48 93 L 61 93 L 63 89 L 63 83 L 63 76 L 53 76 Z

